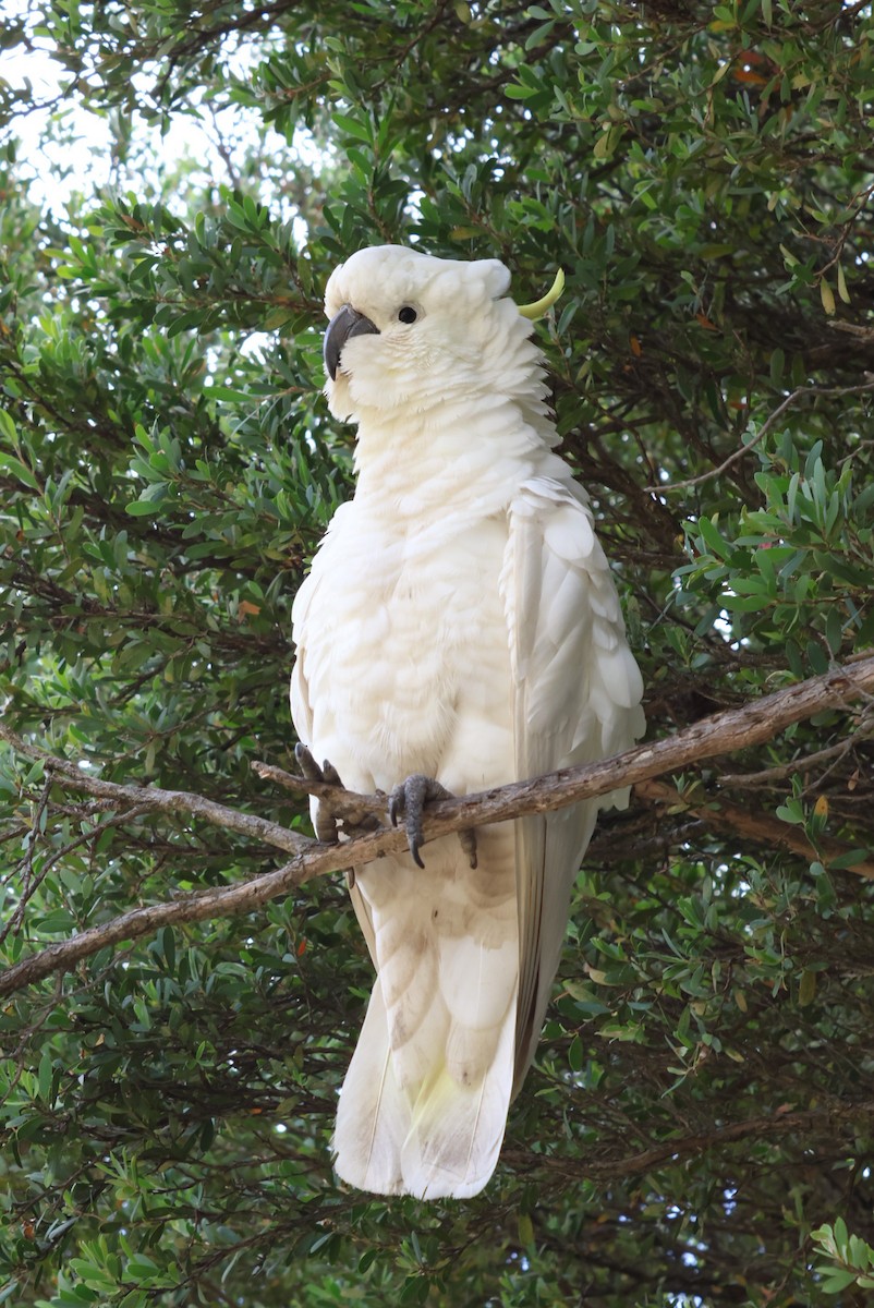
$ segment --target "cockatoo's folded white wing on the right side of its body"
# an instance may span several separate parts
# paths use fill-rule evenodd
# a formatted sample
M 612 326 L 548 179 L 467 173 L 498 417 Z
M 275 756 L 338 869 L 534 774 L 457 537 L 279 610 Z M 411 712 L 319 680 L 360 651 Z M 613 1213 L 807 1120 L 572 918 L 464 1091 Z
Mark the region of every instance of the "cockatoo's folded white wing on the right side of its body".
M 641 734 L 642 683 L 585 492 L 526 481 L 509 510 L 501 574 L 519 780 L 594 761 Z M 570 887 L 599 808 L 627 791 L 519 819 L 516 1088 L 534 1057 L 564 939 Z

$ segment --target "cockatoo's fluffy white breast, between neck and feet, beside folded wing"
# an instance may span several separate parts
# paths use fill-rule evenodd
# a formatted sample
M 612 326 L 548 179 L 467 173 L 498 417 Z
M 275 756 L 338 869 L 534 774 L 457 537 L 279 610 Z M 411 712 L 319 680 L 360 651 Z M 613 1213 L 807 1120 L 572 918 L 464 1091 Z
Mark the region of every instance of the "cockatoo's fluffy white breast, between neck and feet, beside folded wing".
M 294 637 L 311 747 L 347 786 L 411 772 L 463 791 L 510 780 L 502 515 L 402 525 L 351 504 L 326 536 Z

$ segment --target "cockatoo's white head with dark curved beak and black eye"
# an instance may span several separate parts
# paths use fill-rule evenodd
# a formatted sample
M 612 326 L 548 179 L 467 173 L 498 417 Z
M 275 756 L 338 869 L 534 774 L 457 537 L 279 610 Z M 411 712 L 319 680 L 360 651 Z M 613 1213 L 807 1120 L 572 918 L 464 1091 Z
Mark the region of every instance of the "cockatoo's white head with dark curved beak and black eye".
M 339 419 L 430 409 L 536 368 L 531 323 L 506 298 L 497 259 L 436 259 L 406 246 L 358 250 L 331 275 L 324 311 L 326 395 Z

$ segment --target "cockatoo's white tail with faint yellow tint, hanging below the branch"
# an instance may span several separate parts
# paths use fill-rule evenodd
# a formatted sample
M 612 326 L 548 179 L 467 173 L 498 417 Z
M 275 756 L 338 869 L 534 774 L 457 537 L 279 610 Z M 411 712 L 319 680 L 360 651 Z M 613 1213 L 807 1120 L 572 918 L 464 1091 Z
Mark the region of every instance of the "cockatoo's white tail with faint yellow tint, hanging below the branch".
M 338 1176 L 358 1189 L 466 1198 L 495 1171 L 513 1087 L 512 828 L 480 846 L 476 875 L 449 840 L 427 875 L 403 855 L 357 878 L 378 974 L 334 1146 Z

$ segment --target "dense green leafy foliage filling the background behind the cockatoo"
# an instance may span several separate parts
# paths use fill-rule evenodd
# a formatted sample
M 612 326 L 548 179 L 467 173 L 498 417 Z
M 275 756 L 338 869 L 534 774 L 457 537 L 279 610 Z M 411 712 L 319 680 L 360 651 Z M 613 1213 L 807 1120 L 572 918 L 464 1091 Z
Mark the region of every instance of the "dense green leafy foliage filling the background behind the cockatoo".
M 873 642 L 869 4 L 33 0 L 1 41 L 51 54 L 54 131 L 90 106 L 115 182 L 29 198 L 34 93 L 0 84 L 9 726 L 309 829 L 250 764 L 290 763 L 290 602 L 351 485 L 321 290 L 383 241 L 502 258 L 523 301 L 567 271 L 538 331 L 653 735 Z M 225 132 L 215 175 L 145 136 L 194 119 Z M 370 985 L 340 884 L 16 995 L 0 1303 L 864 1303 L 871 721 L 824 714 L 604 819 L 475 1201 L 332 1180 Z M 710 824 L 721 800 L 773 841 Z M 12 751 L 0 836 L 4 961 L 275 859 Z

